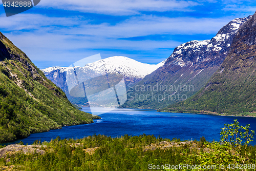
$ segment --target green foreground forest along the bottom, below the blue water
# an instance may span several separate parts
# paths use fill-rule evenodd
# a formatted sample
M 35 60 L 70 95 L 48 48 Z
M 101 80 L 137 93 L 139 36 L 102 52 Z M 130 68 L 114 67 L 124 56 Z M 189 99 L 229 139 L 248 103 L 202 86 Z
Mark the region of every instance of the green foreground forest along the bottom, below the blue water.
M 195 141 L 156 138 L 154 135 L 118 138 L 93 135 L 83 139 L 57 137 L 50 142 L 35 141 L 44 154 L 9 152 L 0 158 L 0 168 L 18 170 L 203 170 L 176 165 L 208 166 L 206 170 L 256 170 L 256 145 L 249 143 L 254 131 L 237 120 L 225 124 L 220 142 L 204 137 Z M 166 144 L 174 144 L 166 146 Z M 23 144 L 20 142 L 19 144 Z M 0 147 L 4 149 L 4 146 Z M 0 153 L 1 154 L 1 153 Z M 162 167 L 168 164 L 170 167 Z M 225 165 L 225 169 L 220 169 Z M 159 166 L 159 169 L 157 167 Z M 214 168 L 216 166 L 216 168 Z M 156 168 L 156 169 L 154 169 Z M 242 169 L 241 169 L 242 168 Z

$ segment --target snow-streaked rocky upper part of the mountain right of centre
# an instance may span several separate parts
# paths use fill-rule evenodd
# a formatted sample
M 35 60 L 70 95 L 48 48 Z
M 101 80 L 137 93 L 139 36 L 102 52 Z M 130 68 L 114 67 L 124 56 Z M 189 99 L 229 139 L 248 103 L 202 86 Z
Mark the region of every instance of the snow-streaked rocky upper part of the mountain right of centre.
M 251 17 L 235 18 L 224 26 L 212 37 L 211 40 L 190 41 L 174 49 L 172 55 L 166 60 L 168 66 L 178 65 L 181 67 L 189 65 L 204 64 L 204 67 L 223 62 L 227 56 L 229 47 L 239 27 Z M 209 61 L 215 61 L 210 63 Z M 219 64 L 217 62 L 217 64 Z

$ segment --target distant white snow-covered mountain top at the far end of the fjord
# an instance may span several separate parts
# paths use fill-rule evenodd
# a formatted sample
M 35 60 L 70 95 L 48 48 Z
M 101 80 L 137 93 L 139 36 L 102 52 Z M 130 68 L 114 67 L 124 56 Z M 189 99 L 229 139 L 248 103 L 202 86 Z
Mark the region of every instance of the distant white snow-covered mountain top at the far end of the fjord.
M 157 68 L 164 65 L 164 62 L 161 62 L 157 65 L 144 64 L 133 59 L 127 58 L 125 56 L 112 56 L 103 60 L 99 60 L 93 63 L 89 63 L 83 67 L 74 66 L 74 67 L 49 67 L 42 69 L 42 72 L 45 73 L 46 77 L 50 79 L 53 83 L 59 86 L 63 91 L 67 91 L 65 88 L 66 85 L 66 73 L 69 73 L 70 70 L 78 68 L 79 71 L 84 74 L 93 74 L 93 73 L 118 73 L 124 76 L 124 81 L 126 86 L 134 84 L 142 80 L 147 74 L 152 73 Z

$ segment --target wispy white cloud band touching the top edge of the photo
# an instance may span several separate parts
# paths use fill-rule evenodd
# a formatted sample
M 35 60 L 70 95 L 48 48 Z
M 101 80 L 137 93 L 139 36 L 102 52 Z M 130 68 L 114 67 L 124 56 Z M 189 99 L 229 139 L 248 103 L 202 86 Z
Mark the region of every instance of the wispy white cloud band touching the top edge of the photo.
M 44 0 L 38 4 L 39 7 L 109 15 L 133 15 L 140 11 L 190 11 L 189 7 L 197 5 L 200 4 L 176 0 Z

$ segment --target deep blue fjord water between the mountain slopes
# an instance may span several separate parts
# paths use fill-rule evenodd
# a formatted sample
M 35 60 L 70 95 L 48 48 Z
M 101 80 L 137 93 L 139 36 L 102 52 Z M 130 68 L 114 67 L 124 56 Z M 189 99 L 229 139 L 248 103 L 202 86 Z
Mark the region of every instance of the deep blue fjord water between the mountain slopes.
M 88 110 L 83 108 L 83 111 Z M 219 141 L 221 128 L 224 127 L 225 123 L 233 123 L 234 119 L 238 119 L 243 126 L 250 124 L 250 129 L 256 130 L 256 118 L 249 117 L 163 113 L 142 109 L 115 109 L 100 115 L 100 117 L 100 120 L 94 120 L 92 124 L 65 126 L 62 129 L 31 134 L 22 141 L 24 144 L 32 144 L 39 139 L 51 141 L 57 136 L 61 139 L 79 139 L 93 134 L 111 137 L 120 137 L 125 134 L 129 136 L 146 134 L 181 140 L 200 140 L 200 137 L 204 136 L 207 141 Z M 252 145 L 256 144 L 256 138 L 254 141 L 251 143 Z M 15 142 L 10 144 L 15 144 Z

